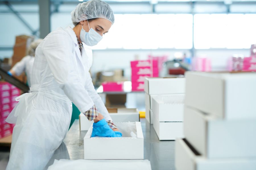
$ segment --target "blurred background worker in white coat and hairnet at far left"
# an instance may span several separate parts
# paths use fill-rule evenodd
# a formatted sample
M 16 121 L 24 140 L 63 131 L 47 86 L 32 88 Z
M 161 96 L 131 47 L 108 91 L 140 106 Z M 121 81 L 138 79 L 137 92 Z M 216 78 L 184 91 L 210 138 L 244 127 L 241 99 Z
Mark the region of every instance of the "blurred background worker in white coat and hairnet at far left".
M 13 68 L 8 71 L 8 74 L 13 76 L 19 76 L 21 73 L 25 72 L 27 75 L 27 81 L 28 81 L 28 86 L 31 87 L 30 83 L 30 77 L 31 77 L 31 71 L 32 71 L 32 66 L 34 63 L 35 59 L 35 52 L 36 52 L 36 47 L 42 42 L 43 39 L 37 39 L 36 41 L 33 41 L 29 47 L 28 47 L 28 55 L 23 57 L 18 63 L 16 63 Z

